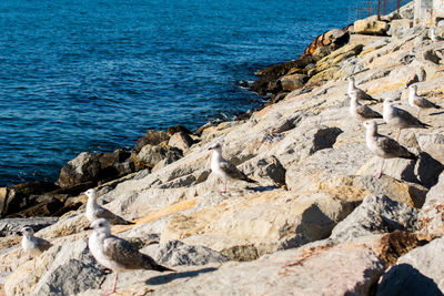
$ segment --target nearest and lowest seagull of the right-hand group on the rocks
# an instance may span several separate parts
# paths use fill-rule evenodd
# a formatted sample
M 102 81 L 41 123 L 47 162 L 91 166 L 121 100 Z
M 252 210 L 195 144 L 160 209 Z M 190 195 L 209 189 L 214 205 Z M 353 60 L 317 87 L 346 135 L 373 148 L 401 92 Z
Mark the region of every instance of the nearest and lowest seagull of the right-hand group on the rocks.
M 406 147 L 401 145 L 398 142 L 377 133 L 376 122 L 373 120 L 365 121 L 364 126 L 366 129 L 366 144 L 371 152 L 382 157 L 381 170 L 374 176 L 380 178 L 382 175 L 382 170 L 384 169 L 385 159 L 407 159 L 417 160 L 417 156 L 410 152 Z

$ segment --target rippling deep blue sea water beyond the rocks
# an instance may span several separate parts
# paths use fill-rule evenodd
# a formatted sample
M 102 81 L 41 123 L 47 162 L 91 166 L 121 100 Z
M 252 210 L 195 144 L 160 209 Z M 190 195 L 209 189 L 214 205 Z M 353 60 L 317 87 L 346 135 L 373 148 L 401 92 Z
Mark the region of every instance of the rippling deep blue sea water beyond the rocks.
M 0 186 L 53 182 L 80 152 L 258 106 L 240 81 L 351 23 L 353 3 L 0 1 Z

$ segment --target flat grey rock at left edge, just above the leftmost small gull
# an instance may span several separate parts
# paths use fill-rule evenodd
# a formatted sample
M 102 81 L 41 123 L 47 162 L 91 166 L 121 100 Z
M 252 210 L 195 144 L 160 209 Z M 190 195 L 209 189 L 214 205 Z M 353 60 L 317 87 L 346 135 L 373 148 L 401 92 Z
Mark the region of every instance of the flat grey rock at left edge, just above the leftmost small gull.
M 58 220 L 58 217 L 2 218 L 0 220 L 0 237 L 17 235 L 24 226 L 31 226 L 34 232 L 38 232 Z

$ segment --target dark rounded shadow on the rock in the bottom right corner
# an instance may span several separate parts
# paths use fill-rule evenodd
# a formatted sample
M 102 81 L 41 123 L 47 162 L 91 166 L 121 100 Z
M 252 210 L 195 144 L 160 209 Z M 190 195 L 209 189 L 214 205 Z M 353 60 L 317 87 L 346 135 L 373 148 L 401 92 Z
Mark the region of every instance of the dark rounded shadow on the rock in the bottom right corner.
M 410 264 L 393 266 L 377 286 L 376 296 L 443 295 L 436 283 Z

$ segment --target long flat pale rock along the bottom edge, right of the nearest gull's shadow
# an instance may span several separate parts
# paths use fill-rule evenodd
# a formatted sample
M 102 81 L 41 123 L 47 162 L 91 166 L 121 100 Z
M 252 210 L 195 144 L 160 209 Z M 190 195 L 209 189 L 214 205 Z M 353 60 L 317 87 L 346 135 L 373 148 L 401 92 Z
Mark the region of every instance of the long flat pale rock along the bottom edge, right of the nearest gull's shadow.
M 195 290 L 202 295 L 369 295 L 384 268 L 365 246 L 341 245 L 289 249 L 254 262 L 203 269 L 199 276 L 183 279 L 161 276 L 149 284 L 157 287 L 153 295 L 190 295 Z

